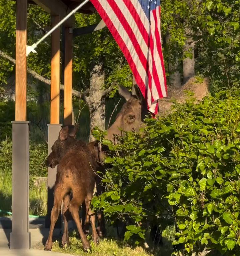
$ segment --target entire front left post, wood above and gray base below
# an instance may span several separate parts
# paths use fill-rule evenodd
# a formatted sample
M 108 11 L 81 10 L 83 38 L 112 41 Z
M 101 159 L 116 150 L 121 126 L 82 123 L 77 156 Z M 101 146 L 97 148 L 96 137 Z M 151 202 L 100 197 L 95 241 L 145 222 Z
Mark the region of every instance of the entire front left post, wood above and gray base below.
M 29 249 L 29 122 L 27 93 L 27 0 L 16 3 L 16 101 L 12 122 L 12 232 L 10 249 Z

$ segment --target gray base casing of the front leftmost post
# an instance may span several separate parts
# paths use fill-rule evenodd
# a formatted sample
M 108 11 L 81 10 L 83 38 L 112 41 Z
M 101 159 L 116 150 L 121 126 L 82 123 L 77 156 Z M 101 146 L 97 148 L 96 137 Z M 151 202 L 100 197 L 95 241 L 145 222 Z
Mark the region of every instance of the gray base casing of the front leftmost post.
M 12 232 L 10 249 L 29 249 L 29 121 L 12 122 Z

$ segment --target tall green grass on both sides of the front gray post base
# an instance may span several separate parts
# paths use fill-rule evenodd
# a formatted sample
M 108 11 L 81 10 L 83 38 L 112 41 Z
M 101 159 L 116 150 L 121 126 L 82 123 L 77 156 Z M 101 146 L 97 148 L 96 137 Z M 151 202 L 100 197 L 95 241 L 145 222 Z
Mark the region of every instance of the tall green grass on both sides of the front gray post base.
M 12 170 L 5 167 L 0 170 L 0 209 L 12 210 Z M 44 182 L 29 186 L 29 215 L 44 216 L 47 213 L 47 187 Z M 6 216 L 0 213 L 0 216 Z

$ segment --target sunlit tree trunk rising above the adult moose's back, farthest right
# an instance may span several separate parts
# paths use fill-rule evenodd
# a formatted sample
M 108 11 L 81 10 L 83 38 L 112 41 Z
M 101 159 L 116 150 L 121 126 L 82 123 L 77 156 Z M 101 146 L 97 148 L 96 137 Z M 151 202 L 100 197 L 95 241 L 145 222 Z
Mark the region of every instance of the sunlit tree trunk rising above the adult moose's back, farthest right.
M 183 47 L 183 83 L 186 83 L 187 80 L 195 75 L 195 60 L 194 60 L 194 46 L 195 42 L 193 41 L 193 38 L 191 37 L 191 30 L 190 28 L 186 28 L 185 30 L 185 36 L 186 36 L 186 42 Z M 192 54 L 192 58 L 190 59 L 185 58 L 186 52 Z

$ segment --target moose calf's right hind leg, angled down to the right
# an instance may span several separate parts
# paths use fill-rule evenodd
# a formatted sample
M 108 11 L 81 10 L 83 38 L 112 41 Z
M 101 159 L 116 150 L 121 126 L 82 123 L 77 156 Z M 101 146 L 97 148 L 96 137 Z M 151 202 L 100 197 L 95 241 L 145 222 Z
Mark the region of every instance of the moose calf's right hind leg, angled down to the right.
M 83 232 L 82 226 L 80 224 L 80 219 L 79 219 L 79 207 L 83 203 L 83 201 L 84 201 L 84 196 L 81 193 L 81 191 L 79 191 L 79 190 L 73 191 L 73 198 L 69 203 L 68 209 L 71 212 L 72 217 L 76 223 L 79 235 L 82 240 L 83 249 L 84 249 L 84 251 L 87 251 L 88 249 L 91 250 L 91 246 Z

